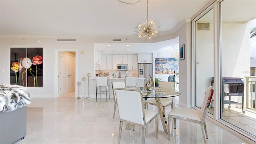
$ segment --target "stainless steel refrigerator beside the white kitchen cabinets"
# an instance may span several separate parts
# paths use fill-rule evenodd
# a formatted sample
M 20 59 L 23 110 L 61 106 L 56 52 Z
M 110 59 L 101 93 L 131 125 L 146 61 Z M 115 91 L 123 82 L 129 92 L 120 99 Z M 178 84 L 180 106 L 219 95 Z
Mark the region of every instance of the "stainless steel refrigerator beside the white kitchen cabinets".
M 153 76 L 152 63 L 138 63 L 139 78 L 145 78 L 144 80 L 151 80 L 150 76 Z

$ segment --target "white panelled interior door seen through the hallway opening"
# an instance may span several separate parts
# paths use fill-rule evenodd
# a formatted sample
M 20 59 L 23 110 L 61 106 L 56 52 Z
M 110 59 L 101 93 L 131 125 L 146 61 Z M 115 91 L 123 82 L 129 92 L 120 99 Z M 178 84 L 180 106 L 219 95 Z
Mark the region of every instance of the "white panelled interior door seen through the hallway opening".
M 66 94 L 75 90 L 75 56 L 60 52 L 59 57 L 59 94 Z

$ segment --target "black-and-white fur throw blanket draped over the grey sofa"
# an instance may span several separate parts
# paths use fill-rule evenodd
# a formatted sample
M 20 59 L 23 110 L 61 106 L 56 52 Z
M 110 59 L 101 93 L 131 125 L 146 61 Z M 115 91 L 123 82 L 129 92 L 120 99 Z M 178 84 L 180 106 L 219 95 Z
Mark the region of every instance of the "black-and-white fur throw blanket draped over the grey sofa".
M 0 84 L 0 112 L 10 112 L 30 104 L 30 94 L 18 85 Z

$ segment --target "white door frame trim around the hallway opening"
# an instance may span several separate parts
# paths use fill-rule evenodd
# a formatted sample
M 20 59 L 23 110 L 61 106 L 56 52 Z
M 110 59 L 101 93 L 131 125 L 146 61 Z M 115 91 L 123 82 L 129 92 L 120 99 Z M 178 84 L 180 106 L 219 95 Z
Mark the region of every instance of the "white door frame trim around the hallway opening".
M 59 52 L 76 52 L 76 77 L 75 77 L 75 81 L 77 82 L 78 80 L 78 63 L 77 63 L 77 55 L 78 55 L 78 49 L 55 49 L 54 50 L 54 97 L 57 98 L 59 95 Z M 78 90 L 77 90 L 77 86 L 75 88 L 75 97 L 78 96 Z

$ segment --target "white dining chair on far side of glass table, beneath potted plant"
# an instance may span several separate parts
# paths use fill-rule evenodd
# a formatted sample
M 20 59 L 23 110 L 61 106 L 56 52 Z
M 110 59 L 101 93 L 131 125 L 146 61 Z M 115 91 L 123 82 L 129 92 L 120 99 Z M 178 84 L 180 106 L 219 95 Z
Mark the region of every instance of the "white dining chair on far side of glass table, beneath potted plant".
M 174 82 L 162 82 L 162 81 L 160 81 L 159 82 L 159 87 L 160 88 L 166 88 L 168 90 L 174 90 L 174 84 L 175 84 Z M 160 102 L 161 102 L 161 105 L 163 107 L 164 113 L 165 113 L 165 108 L 167 106 L 171 106 L 173 108 L 173 98 L 160 98 Z M 148 104 L 157 106 L 156 100 L 154 98 L 149 99 L 149 100 L 146 101 L 146 108 L 148 108 Z

